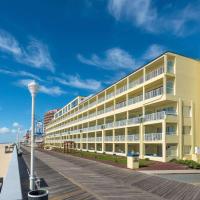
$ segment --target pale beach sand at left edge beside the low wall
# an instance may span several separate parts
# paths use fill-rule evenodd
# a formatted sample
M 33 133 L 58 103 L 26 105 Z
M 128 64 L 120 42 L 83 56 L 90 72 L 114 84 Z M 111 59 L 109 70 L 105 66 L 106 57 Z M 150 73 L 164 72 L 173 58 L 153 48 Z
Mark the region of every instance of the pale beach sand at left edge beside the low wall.
M 12 156 L 12 153 L 5 153 L 5 146 L 6 144 L 0 144 L 0 177 L 6 176 Z

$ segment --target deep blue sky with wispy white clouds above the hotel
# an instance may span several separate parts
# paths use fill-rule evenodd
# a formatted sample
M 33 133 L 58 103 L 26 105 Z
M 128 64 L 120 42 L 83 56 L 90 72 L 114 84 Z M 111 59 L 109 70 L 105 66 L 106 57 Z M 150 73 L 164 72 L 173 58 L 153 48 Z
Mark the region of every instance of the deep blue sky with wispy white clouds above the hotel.
M 77 95 L 105 88 L 164 51 L 200 58 L 200 1 L 0 1 L 0 142 Z

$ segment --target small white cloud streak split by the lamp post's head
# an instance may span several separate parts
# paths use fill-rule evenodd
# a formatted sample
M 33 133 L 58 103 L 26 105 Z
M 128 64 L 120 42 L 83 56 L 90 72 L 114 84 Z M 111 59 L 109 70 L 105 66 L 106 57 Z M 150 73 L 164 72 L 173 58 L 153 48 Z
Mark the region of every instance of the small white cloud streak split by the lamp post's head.
M 17 82 L 18 86 L 21 87 L 28 87 L 28 84 L 33 81 L 31 79 L 21 79 Z M 47 95 L 51 95 L 51 96 L 60 96 L 62 94 L 66 94 L 66 91 L 62 90 L 60 87 L 58 86 L 53 86 L 53 87 L 49 87 L 49 86 L 45 86 L 45 85 L 39 85 L 39 92 L 47 94 Z

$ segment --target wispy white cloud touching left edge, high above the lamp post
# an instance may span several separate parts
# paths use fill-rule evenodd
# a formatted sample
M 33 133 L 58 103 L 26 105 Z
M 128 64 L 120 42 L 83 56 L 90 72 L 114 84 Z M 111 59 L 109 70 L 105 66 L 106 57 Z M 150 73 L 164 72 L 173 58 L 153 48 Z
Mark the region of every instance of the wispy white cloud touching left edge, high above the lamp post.
M 0 50 L 10 53 L 19 63 L 38 69 L 55 71 L 48 47 L 38 40 L 31 39 L 27 47 L 22 47 L 14 36 L 0 30 Z

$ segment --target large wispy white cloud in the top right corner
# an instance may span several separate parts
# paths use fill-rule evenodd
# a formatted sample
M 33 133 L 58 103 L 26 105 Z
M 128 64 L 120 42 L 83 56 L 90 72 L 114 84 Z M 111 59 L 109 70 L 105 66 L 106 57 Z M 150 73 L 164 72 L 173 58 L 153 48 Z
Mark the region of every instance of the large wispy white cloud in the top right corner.
M 162 10 L 158 9 L 152 0 L 109 0 L 108 11 L 117 21 L 129 21 L 134 26 L 153 33 L 167 31 L 184 36 L 198 29 L 198 2 L 189 2 L 182 8 L 177 7 L 175 3 L 171 6 L 164 5 L 162 8 L 165 9 Z

